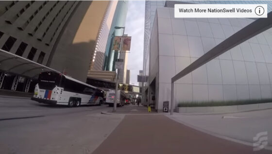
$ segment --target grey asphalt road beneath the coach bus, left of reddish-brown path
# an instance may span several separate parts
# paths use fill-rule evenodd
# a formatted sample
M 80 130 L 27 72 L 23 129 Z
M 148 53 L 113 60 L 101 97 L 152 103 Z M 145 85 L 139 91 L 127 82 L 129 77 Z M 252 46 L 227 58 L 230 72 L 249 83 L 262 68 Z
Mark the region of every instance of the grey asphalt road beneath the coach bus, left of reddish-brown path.
M 107 105 L 77 108 L 0 98 L 0 154 L 90 154 L 124 116 Z

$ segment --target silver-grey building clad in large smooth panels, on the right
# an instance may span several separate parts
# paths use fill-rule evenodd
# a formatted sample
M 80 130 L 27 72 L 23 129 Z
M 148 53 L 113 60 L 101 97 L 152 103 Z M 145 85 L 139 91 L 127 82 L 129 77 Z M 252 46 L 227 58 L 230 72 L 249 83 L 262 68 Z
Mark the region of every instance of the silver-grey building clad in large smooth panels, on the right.
M 145 53 L 148 56 L 144 57 L 147 59 L 144 72 L 148 76 L 145 103 L 154 103 L 157 110 L 162 109 L 164 101 L 170 102 L 174 75 L 255 21 L 251 18 L 175 18 L 173 3 L 167 1 L 167 7 L 155 9 L 149 49 Z M 271 6 L 268 2 L 268 8 Z M 174 103 L 272 98 L 271 81 L 272 29 L 269 29 L 176 81 Z

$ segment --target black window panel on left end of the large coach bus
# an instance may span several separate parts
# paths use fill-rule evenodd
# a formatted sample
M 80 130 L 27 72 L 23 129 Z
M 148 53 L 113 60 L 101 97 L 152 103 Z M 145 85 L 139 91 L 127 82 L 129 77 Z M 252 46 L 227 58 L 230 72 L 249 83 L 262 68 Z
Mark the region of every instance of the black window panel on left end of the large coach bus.
M 38 85 L 41 89 L 52 90 L 58 86 L 61 80 L 61 74 L 55 72 L 42 72 L 38 78 Z

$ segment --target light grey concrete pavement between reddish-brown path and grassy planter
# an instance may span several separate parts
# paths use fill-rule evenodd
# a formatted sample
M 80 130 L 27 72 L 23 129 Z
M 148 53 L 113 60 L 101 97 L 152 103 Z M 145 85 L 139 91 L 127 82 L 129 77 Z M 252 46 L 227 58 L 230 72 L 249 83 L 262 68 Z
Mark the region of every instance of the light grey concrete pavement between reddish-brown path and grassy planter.
M 210 115 L 174 113 L 167 116 L 205 133 L 247 145 L 253 145 L 253 137 L 258 133 L 267 132 L 266 148 L 272 150 L 272 109 Z

